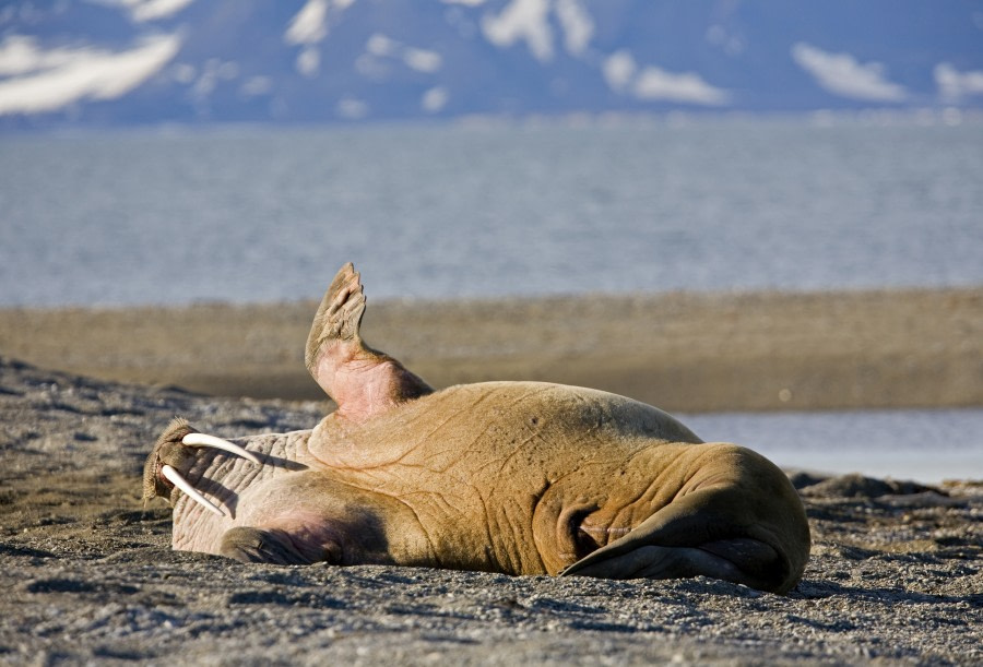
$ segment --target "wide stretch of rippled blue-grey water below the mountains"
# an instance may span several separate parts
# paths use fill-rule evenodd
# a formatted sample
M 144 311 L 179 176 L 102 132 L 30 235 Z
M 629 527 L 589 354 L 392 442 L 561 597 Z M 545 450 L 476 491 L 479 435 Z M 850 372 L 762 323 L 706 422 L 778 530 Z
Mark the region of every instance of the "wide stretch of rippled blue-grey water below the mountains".
M 0 306 L 983 284 L 983 124 L 0 139 Z

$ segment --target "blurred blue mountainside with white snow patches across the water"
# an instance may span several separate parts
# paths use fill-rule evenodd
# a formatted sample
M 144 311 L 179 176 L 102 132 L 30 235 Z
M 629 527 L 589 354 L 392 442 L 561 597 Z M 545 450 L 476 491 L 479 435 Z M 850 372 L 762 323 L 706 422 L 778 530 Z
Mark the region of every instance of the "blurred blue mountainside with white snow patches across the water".
M 970 0 L 0 4 L 0 129 L 983 106 Z

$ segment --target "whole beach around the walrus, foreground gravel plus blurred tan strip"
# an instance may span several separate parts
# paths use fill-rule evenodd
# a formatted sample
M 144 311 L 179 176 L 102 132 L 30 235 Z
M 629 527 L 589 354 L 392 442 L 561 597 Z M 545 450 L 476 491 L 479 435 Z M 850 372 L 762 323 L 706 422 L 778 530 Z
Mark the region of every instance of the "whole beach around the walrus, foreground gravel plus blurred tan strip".
M 789 471 L 814 545 L 787 596 L 171 551 L 166 503 L 140 501 L 157 432 L 175 414 L 227 437 L 313 426 L 330 405 L 303 367 L 312 312 L 0 311 L 0 663 L 983 660 L 983 480 Z M 983 405 L 983 289 L 370 302 L 365 335 L 438 386 L 552 380 L 690 412 Z

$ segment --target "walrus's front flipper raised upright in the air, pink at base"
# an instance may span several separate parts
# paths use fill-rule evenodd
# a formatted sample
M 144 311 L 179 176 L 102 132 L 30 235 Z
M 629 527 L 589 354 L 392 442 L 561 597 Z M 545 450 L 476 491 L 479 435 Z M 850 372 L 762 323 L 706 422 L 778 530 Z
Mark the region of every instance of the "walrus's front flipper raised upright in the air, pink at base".
M 351 264 L 342 266 L 321 300 L 307 337 L 311 377 L 337 403 L 336 414 L 354 422 L 434 390 L 359 335 L 365 294 Z

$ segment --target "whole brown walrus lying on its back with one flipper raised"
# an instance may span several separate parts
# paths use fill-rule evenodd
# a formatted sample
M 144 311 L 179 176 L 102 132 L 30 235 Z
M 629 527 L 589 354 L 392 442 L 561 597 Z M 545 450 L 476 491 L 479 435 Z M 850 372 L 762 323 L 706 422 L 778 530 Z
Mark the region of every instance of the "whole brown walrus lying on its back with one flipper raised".
M 177 418 L 159 436 L 143 497 L 169 499 L 175 549 L 284 564 L 704 575 L 775 593 L 800 581 L 808 522 L 763 456 L 592 389 L 435 391 L 365 344 L 365 303 L 348 263 L 307 341 L 307 368 L 337 404 L 313 429 L 228 441 Z

